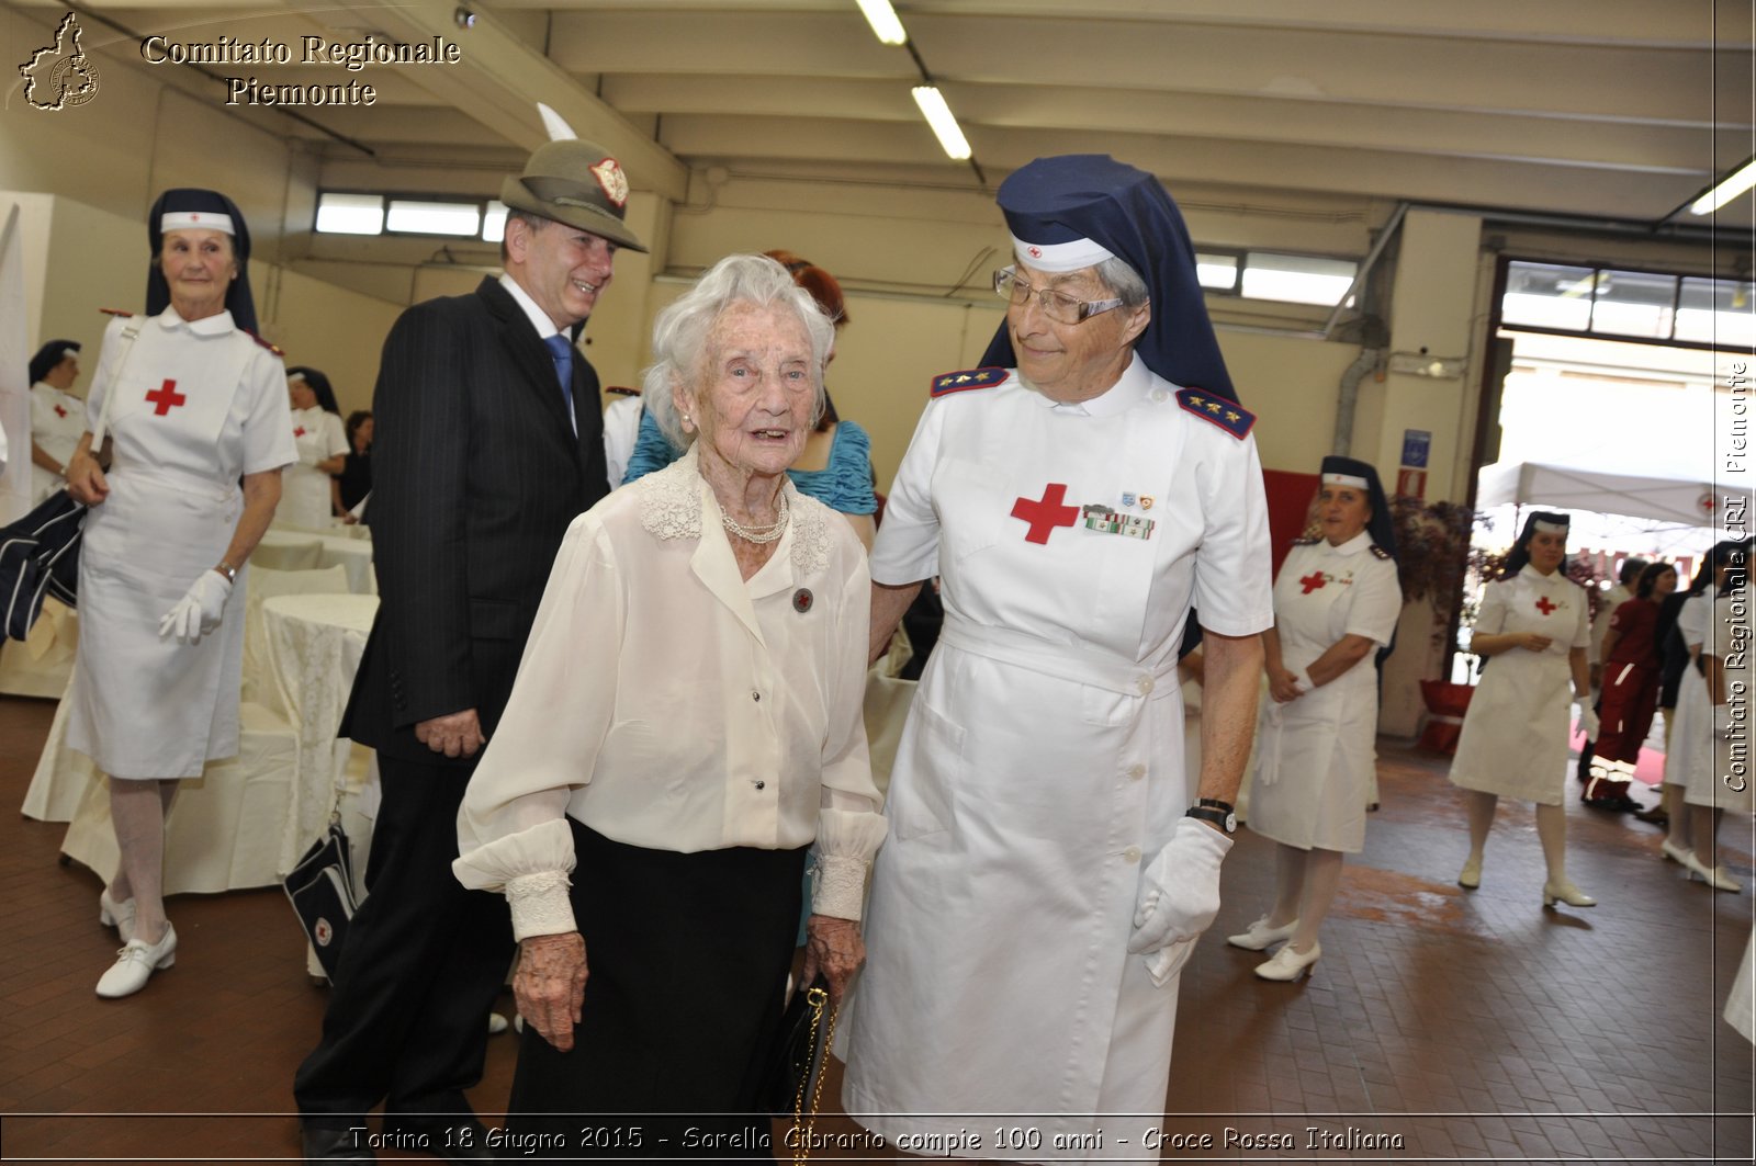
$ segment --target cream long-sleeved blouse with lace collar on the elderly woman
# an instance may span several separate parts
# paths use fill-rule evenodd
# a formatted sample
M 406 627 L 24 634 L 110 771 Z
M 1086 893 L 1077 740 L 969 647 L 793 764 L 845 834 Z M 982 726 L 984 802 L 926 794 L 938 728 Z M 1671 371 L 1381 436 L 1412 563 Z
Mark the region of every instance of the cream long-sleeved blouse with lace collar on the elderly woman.
M 458 880 L 513 931 L 574 931 L 567 817 L 694 853 L 817 839 L 813 908 L 859 918 L 883 841 L 860 702 L 871 576 L 852 529 L 792 525 L 748 581 L 692 448 L 574 520 L 458 811 Z

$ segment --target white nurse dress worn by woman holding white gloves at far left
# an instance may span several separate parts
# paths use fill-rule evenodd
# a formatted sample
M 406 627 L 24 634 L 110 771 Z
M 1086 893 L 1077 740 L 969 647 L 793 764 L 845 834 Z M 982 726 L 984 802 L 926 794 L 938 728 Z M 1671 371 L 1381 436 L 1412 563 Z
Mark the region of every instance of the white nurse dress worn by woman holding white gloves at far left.
M 239 478 L 293 460 L 286 371 L 230 313 L 184 321 L 167 307 L 111 321 L 95 413 L 111 392 L 111 492 L 86 513 L 79 550 L 67 743 L 112 778 L 193 778 L 237 753 L 242 595 L 197 644 L 160 637 L 158 620 L 232 543 Z

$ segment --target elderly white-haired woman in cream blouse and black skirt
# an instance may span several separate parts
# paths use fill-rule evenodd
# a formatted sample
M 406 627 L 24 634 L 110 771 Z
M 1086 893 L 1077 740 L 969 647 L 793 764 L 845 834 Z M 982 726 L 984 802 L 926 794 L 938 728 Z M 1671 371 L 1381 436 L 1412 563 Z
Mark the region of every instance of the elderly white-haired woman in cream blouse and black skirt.
M 457 876 L 506 892 L 520 941 L 515 1129 L 748 1126 L 813 839 L 802 976 L 839 997 L 864 961 L 885 832 L 860 723 L 869 574 L 848 523 L 785 472 L 831 339 L 774 260 L 715 265 L 658 314 L 643 392 L 688 453 L 562 543 L 458 815 Z M 676 1152 L 658 1136 L 644 1122 L 567 1152 Z

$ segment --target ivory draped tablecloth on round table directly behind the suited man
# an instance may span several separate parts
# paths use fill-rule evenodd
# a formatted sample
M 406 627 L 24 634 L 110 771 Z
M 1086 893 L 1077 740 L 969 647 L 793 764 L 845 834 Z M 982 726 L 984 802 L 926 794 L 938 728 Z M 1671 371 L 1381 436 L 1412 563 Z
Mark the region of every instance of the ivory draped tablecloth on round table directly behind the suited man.
M 269 664 L 299 736 L 277 864 L 291 869 L 335 810 L 346 787 L 351 741 L 337 741 L 353 674 L 378 615 L 376 595 L 276 595 L 262 604 Z

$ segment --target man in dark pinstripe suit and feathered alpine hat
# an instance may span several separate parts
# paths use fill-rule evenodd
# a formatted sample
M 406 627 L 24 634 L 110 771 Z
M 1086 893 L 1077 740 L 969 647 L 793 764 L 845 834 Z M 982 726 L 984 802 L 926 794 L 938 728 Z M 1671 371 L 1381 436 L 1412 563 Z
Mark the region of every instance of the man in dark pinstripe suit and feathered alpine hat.
M 597 374 L 572 341 L 609 283 L 629 184 L 590 142 L 506 179 L 506 274 L 407 309 L 372 411 L 381 608 L 341 732 L 378 750 L 383 806 L 323 1041 L 293 1082 L 307 1161 L 386 1145 L 490 1161 L 464 1090 L 513 955 L 506 903 L 451 876 L 457 810 L 493 736 L 567 523 L 604 493 Z

